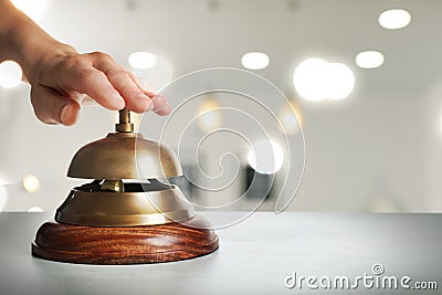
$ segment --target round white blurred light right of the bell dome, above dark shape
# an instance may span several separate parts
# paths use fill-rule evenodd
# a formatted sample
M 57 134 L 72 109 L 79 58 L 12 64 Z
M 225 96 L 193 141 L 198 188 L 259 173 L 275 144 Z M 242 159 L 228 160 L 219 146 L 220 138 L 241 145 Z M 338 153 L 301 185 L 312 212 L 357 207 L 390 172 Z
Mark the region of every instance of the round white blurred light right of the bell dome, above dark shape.
M 249 149 L 248 162 L 260 173 L 273 175 L 283 167 L 284 152 L 275 141 L 261 139 Z

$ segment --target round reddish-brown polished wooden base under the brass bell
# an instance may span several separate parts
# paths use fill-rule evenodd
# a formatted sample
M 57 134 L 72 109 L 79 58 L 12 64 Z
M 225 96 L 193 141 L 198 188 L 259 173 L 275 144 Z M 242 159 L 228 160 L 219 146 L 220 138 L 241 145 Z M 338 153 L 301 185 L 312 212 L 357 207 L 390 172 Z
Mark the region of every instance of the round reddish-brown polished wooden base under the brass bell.
M 83 264 L 140 264 L 188 260 L 215 251 L 218 236 L 196 215 L 188 222 L 96 228 L 46 222 L 36 232 L 32 255 Z

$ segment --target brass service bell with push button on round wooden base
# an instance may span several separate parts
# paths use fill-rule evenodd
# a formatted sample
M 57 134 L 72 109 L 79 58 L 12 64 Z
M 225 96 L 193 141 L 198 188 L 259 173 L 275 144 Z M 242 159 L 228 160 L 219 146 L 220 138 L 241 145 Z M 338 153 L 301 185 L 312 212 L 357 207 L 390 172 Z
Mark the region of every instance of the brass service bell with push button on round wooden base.
M 39 229 L 32 254 L 63 262 L 131 264 L 213 252 L 219 244 L 210 223 L 196 215 L 177 186 L 165 181 L 181 175 L 175 152 L 134 133 L 130 112 L 119 110 L 116 133 L 75 154 L 67 177 L 93 181 L 71 190 L 56 210 L 59 223 Z

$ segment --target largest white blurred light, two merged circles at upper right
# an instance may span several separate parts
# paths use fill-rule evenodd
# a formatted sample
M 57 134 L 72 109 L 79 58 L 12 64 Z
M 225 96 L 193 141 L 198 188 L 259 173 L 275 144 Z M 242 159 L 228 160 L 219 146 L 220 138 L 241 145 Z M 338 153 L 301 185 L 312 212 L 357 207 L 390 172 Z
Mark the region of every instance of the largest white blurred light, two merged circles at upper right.
M 293 84 L 307 101 L 341 99 L 352 92 L 355 75 L 345 64 L 308 59 L 296 67 Z

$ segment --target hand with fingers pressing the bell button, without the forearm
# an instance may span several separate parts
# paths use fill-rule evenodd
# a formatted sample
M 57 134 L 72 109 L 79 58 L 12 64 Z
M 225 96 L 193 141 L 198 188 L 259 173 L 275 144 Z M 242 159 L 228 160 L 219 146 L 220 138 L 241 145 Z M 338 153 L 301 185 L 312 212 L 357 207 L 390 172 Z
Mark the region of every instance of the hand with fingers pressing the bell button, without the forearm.
M 168 115 L 170 105 L 161 95 L 135 78 L 108 54 L 93 52 L 44 56 L 29 66 L 31 103 L 35 116 L 46 124 L 75 124 L 83 94 L 105 108 L 118 110 L 125 106 L 136 113 L 154 110 Z

